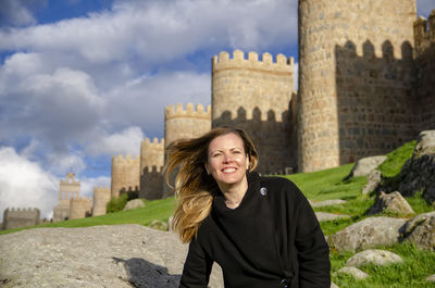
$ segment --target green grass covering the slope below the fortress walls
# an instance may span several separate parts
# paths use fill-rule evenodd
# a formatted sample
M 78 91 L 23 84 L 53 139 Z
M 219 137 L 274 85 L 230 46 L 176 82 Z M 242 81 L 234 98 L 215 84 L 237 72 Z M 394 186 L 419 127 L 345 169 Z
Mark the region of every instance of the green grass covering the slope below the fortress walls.
M 384 177 L 394 177 L 399 173 L 400 167 L 403 165 L 406 160 L 412 155 L 414 145 L 415 142 L 406 143 L 387 155 L 387 161 L 380 166 Z M 321 227 L 325 235 L 333 235 L 346 226 L 363 220 L 366 217 L 368 209 L 374 203 L 375 195 L 361 195 L 361 189 L 366 183 L 365 177 L 356 177 L 345 180 L 345 177 L 349 174 L 351 167 L 352 164 L 348 164 L 319 172 L 284 176 L 296 183 L 306 197 L 312 201 L 323 201 L 328 199 L 343 199 L 347 201 L 346 204 L 314 209 L 314 211 L 349 215 L 349 217 L 337 221 L 322 222 Z M 407 200 L 417 213 L 424 213 L 434 210 L 421 198 L 421 193 L 418 193 L 412 198 L 407 198 Z M 148 225 L 153 220 L 166 221 L 173 213 L 173 209 L 174 199 L 169 198 L 149 201 L 147 202 L 146 208 L 142 209 L 111 213 L 98 217 L 39 225 L 36 227 L 86 227 L 127 223 Z M 405 215 L 388 214 L 387 216 Z M 0 235 L 16 230 L 18 229 L 0 231 Z M 352 253 L 338 253 L 336 250 L 332 249 L 331 263 L 333 281 L 341 288 L 435 288 L 435 283 L 428 283 L 424 280 L 425 277 L 435 273 L 433 270 L 433 267 L 435 267 L 435 252 L 419 250 L 410 243 L 397 243 L 391 247 L 384 247 L 382 249 L 387 249 L 401 255 L 405 263 L 386 267 L 376 265 L 363 266 L 361 270 L 371 275 L 364 280 L 356 280 L 349 275 L 336 274 L 336 272 L 345 265 L 346 261 L 352 255 Z

